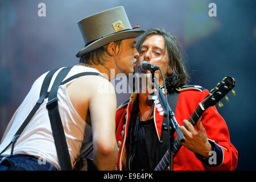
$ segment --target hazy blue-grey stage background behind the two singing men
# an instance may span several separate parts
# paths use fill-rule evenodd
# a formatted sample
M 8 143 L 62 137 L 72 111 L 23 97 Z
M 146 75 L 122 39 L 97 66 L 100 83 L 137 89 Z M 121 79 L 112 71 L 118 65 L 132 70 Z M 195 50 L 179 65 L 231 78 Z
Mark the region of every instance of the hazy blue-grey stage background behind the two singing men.
M 38 4 L 46 16 L 38 16 Z M 217 16 L 210 17 L 210 3 Z M 256 169 L 256 2 L 190 0 L 0 1 L 0 139 L 14 111 L 42 73 L 77 64 L 84 47 L 77 21 L 124 6 L 131 26 L 171 32 L 187 53 L 189 84 L 211 89 L 223 77 L 236 79 L 236 97 L 218 109 L 238 150 L 237 170 Z M 129 94 L 117 94 L 118 104 Z

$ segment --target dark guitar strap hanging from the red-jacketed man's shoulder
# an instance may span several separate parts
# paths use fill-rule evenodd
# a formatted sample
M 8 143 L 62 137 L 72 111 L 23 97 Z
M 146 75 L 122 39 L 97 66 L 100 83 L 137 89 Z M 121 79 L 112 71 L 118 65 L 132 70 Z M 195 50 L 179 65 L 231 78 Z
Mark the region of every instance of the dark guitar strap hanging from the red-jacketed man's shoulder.
M 179 93 L 177 93 L 177 92 L 167 94 L 168 104 L 170 105 L 170 107 L 174 113 L 175 113 L 178 97 L 179 97 Z M 163 128 L 164 125 L 166 126 L 166 129 L 167 129 L 167 126 L 168 126 L 167 117 L 163 117 L 163 125 L 162 125 L 162 129 L 161 129 L 163 143 L 160 143 L 160 148 L 159 148 L 160 153 L 159 154 L 161 154 L 161 155 L 159 155 L 159 160 L 162 159 L 163 155 L 166 153 L 166 151 L 169 148 L 169 133 L 168 133 L 168 130 Z

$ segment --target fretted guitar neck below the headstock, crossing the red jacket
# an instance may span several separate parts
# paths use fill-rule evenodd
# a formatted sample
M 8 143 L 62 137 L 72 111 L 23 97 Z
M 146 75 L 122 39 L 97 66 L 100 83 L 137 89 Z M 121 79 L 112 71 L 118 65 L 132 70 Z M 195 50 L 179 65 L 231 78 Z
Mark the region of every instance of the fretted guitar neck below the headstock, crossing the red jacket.
M 201 115 L 203 115 L 205 109 L 203 105 L 200 103 L 196 110 L 192 113 L 191 117 L 188 119 L 188 122 L 190 122 L 193 126 L 196 125 L 197 121 L 199 121 L 199 118 Z M 174 140 L 174 147 L 173 147 L 173 155 L 175 156 L 177 152 L 181 148 L 181 144 L 177 138 Z M 169 166 L 169 150 L 167 150 L 166 154 L 164 154 L 163 158 L 158 163 L 158 166 L 154 169 L 154 171 L 164 171 Z

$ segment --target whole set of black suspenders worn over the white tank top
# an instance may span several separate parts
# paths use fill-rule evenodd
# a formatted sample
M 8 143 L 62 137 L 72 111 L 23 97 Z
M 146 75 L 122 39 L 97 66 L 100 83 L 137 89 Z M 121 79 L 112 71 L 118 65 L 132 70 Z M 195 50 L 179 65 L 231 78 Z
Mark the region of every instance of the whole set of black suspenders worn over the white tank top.
M 28 114 L 25 121 L 22 123 L 22 125 L 20 126 L 18 131 L 15 133 L 10 144 L 8 144 L 8 146 L 0 153 L 0 155 L 5 150 L 7 150 L 7 148 L 10 146 L 11 146 L 10 156 L 13 155 L 14 144 L 15 144 L 16 140 L 19 138 L 20 134 L 26 128 L 26 126 L 30 122 L 31 118 L 34 116 L 36 111 L 39 109 L 39 107 L 43 103 L 44 99 L 48 97 L 48 102 L 47 102 L 46 107 L 48 109 L 49 120 L 51 122 L 52 135 L 53 135 L 53 138 L 55 141 L 57 156 L 58 156 L 59 163 L 60 163 L 60 169 L 61 170 L 72 170 L 72 164 L 71 164 L 71 160 L 70 160 L 70 156 L 69 156 L 69 152 L 68 152 L 67 140 L 65 138 L 65 133 L 64 133 L 64 129 L 63 129 L 63 125 L 61 122 L 60 113 L 59 113 L 59 109 L 58 109 L 58 104 L 57 104 L 57 101 L 58 101 L 57 90 L 60 85 L 63 85 L 77 77 L 85 76 L 85 75 L 101 76 L 101 74 L 96 73 L 96 72 L 83 72 L 83 73 L 74 75 L 70 78 L 67 78 L 67 80 L 63 81 L 63 79 L 68 75 L 68 72 L 71 70 L 71 68 L 72 67 L 61 69 L 61 71 L 56 76 L 55 81 L 53 82 L 50 92 L 47 92 L 47 90 L 49 88 L 49 84 L 52 80 L 52 76 L 58 69 L 53 69 L 52 71 L 49 71 L 47 73 L 46 77 L 44 78 L 42 88 L 40 90 L 39 100 L 36 102 L 35 106 L 31 110 L 30 114 Z M 63 81 L 63 82 L 61 82 L 61 81 Z

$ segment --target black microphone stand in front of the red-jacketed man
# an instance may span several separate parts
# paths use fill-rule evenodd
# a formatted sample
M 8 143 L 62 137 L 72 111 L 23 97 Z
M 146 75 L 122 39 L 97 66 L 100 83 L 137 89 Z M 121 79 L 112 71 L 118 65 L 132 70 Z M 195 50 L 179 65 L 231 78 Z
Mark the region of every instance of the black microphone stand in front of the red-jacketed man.
M 162 78 L 164 78 L 163 76 L 163 73 L 161 71 L 161 69 L 159 68 L 161 74 L 162 74 Z M 152 73 L 153 71 L 151 71 Z M 152 75 L 153 76 L 153 75 Z M 154 84 L 154 78 L 152 78 L 152 82 Z M 162 125 L 162 129 L 161 129 L 161 139 L 160 139 L 160 142 L 163 142 L 162 141 L 162 132 L 163 130 L 168 130 L 168 136 L 169 136 L 169 171 L 173 171 L 174 170 L 174 154 L 173 154 L 173 149 L 174 149 L 174 133 L 176 132 L 177 134 L 177 137 L 180 139 L 180 142 L 185 142 L 185 138 L 184 138 L 184 135 L 182 133 L 182 131 L 180 130 L 180 126 L 179 124 L 177 123 L 176 121 L 176 118 L 174 116 L 174 112 L 172 111 L 170 105 L 168 104 L 168 101 L 167 101 L 167 92 L 166 92 L 166 84 L 165 84 L 165 81 L 163 79 L 163 82 L 164 82 L 164 91 L 165 91 L 165 95 L 163 94 L 162 92 L 162 89 L 160 88 L 160 85 L 155 82 L 155 87 L 156 87 L 156 90 L 158 91 L 158 98 L 159 98 L 159 101 L 160 101 L 160 104 L 162 105 L 163 107 L 163 110 L 164 110 L 164 117 L 167 117 L 167 121 L 168 121 L 168 127 L 166 129 L 166 126 L 163 126 Z

